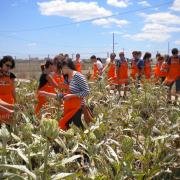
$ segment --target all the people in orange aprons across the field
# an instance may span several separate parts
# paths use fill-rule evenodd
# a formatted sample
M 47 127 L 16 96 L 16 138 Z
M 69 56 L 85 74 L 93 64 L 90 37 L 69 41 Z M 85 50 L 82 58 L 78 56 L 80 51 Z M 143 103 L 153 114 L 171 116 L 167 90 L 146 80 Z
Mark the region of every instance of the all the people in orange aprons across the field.
M 180 56 L 178 49 L 172 49 L 172 56 L 156 55 L 156 65 L 153 68 L 151 53 L 146 52 L 142 58 L 140 51 L 132 52 L 129 61 L 124 52 L 111 53 L 105 65 L 95 55 L 90 57 L 93 72 L 89 70 L 82 74 L 82 61 L 80 54 L 76 54 L 73 61 L 69 56 L 59 54 L 53 60 L 49 59 L 41 65 L 42 74 L 37 87 L 34 111 L 37 118 L 41 118 L 43 107 L 49 103 L 50 98 L 55 98 L 64 104 L 63 117 L 59 120 L 59 127 L 67 130 L 73 123 L 79 128 L 84 128 L 81 116 L 87 123 L 92 120 L 92 113 L 86 105 L 86 97 L 90 88 L 87 79 L 100 81 L 102 77 L 107 79 L 110 89 L 118 89 L 123 85 L 124 96 L 127 95 L 130 79 L 134 84 L 144 82 L 144 79 L 154 83 L 162 83 L 169 87 L 168 101 L 171 101 L 171 89 L 176 84 L 176 100 L 180 93 Z M 11 56 L 4 56 L 0 61 L 0 124 L 12 123 L 14 105 L 16 103 L 15 78 L 11 72 L 15 67 L 15 61 Z M 87 77 L 87 78 L 86 78 Z M 137 87 L 138 87 L 137 86 Z

